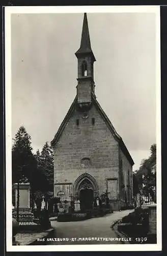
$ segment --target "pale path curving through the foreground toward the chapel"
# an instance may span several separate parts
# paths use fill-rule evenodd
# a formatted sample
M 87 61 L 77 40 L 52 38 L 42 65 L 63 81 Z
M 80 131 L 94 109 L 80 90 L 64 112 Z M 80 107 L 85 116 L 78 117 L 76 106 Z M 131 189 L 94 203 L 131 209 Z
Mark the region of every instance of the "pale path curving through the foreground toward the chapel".
M 103 217 L 91 218 L 77 222 L 57 222 L 56 217 L 50 218 L 51 227 L 38 232 L 19 232 L 15 239 L 19 245 L 61 245 L 61 244 L 121 244 L 120 241 L 48 241 L 55 238 L 118 238 L 118 232 L 113 225 L 118 220 L 127 216 L 133 210 L 115 211 Z M 40 240 L 40 241 L 37 241 Z M 42 241 L 45 240 L 45 241 Z

